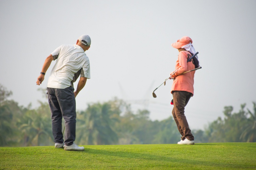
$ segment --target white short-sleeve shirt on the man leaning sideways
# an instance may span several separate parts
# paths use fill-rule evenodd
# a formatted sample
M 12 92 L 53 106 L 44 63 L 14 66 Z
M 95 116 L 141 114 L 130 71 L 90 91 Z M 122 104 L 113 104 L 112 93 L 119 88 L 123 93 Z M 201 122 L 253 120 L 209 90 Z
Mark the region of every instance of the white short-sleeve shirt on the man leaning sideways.
M 48 79 L 47 87 L 64 89 L 72 86 L 79 77 L 90 79 L 90 62 L 82 47 L 61 45 L 52 53 L 56 63 Z

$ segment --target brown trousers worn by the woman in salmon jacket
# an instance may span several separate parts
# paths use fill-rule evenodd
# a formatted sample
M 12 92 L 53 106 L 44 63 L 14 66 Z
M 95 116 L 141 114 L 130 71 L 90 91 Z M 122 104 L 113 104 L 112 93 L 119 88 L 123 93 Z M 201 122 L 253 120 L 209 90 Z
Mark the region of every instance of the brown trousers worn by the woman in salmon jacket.
M 184 140 L 187 138 L 188 140 L 194 140 L 194 136 L 189 129 L 188 122 L 184 114 L 185 106 L 187 105 L 192 94 L 187 91 L 173 91 L 172 94 L 174 106 L 172 109 L 172 116 L 182 136 L 181 139 Z

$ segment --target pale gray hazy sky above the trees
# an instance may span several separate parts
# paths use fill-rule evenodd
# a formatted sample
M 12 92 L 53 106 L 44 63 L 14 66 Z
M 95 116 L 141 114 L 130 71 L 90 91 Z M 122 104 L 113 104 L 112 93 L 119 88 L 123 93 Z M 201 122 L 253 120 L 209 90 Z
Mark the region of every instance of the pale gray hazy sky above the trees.
M 172 80 L 157 98 L 152 92 L 175 69 L 171 44 L 189 36 L 202 69 L 185 115 L 191 129 L 203 129 L 223 117 L 224 106 L 252 110 L 256 101 L 255 7 L 255 0 L 0 0 L 0 84 L 19 105 L 37 107 L 55 64 L 37 86 L 45 58 L 88 34 L 91 79 L 76 97 L 77 110 L 118 97 L 163 120 L 173 108 Z

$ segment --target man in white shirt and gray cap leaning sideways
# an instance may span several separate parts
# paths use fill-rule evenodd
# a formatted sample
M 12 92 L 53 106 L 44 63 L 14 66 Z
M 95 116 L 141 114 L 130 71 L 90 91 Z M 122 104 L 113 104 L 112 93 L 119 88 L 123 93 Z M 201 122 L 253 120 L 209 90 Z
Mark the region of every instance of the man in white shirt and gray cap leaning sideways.
M 75 141 L 75 97 L 90 79 L 90 63 L 85 51 L 90 48 L 91 39 L 88 35 L 81 35 L 76 45 L 61 45 L 45 60 L 42 71 L 37 78 L 37 85 L 44 80 L 44 75 L 53 60 L 56 63 L 49 75 L 47 94 L 52 112 L 52 130 L 55 148 L 65 150 L 84 150 Z M 73 82 L 80 75 L 77 88 L 74 91 Z M 62 134 L 62 117 L 65 120 L 65 141 Z

